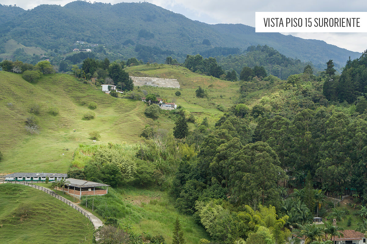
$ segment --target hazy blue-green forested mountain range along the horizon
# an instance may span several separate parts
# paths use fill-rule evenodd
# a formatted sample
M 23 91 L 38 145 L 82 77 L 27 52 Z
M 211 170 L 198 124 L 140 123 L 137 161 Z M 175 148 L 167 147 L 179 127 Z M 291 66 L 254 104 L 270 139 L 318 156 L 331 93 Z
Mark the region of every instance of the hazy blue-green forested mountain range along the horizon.
M 186 54 L 215 47 L 243 51 L 258 44 L 314 64 L 333 59 L 344 65 L 349 56 L 355 59 L 361 55 L 324 41 L 255 33 L 254 27 L 242 24 L 209 25 L 146 2 L 111 5 L 74 1 L 64 7 L 39 5 L 28 11 L 1 5 L 0 20 L 0 43 L 14 39 L 25 46 L 70 51 L 76 41 L 87 41 L 144 61 L 161 61 L 157 57 L 169 55 L 182 61 Z M 5 52 L 3 49 L 0 46 Z

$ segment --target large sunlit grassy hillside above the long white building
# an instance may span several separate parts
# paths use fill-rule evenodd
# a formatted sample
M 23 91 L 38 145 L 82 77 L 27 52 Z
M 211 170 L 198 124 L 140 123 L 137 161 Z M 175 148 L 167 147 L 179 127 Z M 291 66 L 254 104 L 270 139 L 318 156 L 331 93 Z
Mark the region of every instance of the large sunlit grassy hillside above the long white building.
M 95 119 L 82 120 L 91 111 L 92 101 L 98 104 Z M 40 106 L 33 115 L 40 130 L 30 135 L 25 121 L 34 105 Z M 151 121 L 143 113 L 145 106 L 141 101 L 113 98 L 70 75 L 44 75 L 32 84 L 21 75 L 0 71 L 0 151 L 4 154 L 0 173 L 64 173 L 74 149 L 80 143 L 92 143 L 88 133 L 94 130 L 101 133 L 97 144 L 139 142 L 142 129 Z M 51 115 L 51 107 L 57 107 L 59 114 Z M 172 121 L 160 120 L 162 129 L 173 128 Z

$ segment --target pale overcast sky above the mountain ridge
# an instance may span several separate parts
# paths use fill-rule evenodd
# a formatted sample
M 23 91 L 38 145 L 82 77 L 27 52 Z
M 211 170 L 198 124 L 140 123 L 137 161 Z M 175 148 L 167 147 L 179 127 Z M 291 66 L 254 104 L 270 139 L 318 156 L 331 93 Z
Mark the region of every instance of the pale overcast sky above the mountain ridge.
M 71 0 L 1 0 L 1 4 L 14 5 L 32 9 L 40 4 L 61 4 Z M 103 1 L 106 3 L 119 3 L 121 0 Z M 131 0 L 129 1 L 131 2 Z M 135 1 L 137 2 L 137 1 Z M 189 19 L 199 20 L 208 24 L 241 23 L 255 26 L 255 12 L 261 11 L 367 11 L 365 0 L 148 0 L 173 12 L 185 15 Z M 367 13 L 366 13 L 367 14 Z M 348 50 L 363 52 L 367 49 L 367 33 L 284 33 L 292 34 L 306 39 L 326 41 L 328 44 L 337 45 Z

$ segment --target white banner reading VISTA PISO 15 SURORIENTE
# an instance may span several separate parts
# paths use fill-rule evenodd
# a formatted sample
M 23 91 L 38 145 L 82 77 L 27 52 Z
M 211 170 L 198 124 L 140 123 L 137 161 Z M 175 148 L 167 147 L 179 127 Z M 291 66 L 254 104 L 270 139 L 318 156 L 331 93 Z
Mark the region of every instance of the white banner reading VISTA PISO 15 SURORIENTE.
M 367 32 L 367 12 L 256 12 L 255 32 Z

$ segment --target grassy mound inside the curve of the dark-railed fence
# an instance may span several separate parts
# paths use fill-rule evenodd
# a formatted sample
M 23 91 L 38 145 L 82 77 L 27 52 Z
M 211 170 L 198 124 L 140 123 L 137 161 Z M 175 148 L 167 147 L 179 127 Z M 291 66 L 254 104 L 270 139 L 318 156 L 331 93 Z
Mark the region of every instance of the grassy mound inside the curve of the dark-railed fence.
M 90 221 L 45 192 L 6 183 L 0 199 L 1 244 L 92 243 Z

